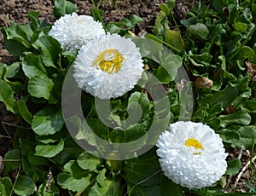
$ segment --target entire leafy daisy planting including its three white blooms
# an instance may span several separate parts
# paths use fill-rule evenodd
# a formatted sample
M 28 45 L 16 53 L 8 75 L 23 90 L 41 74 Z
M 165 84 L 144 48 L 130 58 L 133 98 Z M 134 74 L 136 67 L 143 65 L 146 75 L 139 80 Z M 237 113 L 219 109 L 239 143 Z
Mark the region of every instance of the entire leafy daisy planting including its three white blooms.
M 56 0 L 54 26 L 31 11 L 2 28 L 18 58 L 0 64 L 0 101 L 22 121 L 0 193 L 255 195 L 256 4 L 199 1 L 177 21 L 170 0 L 143 37 L 142 18 L 105 24 L 97 6 L 82 19 Z M 226 188 L 235 147 L 251 153 L 247 193 Z

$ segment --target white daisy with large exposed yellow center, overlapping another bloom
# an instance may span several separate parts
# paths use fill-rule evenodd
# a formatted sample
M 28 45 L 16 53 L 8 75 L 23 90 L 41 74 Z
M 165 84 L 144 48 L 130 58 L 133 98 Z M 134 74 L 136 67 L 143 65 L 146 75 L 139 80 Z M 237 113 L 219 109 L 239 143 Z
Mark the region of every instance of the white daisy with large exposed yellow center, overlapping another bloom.
M 143 74 L 143 60 L 130 38 L 104 35 L 86 43 L 73 63 L 79 88 L 100 99 L 133 89 Z

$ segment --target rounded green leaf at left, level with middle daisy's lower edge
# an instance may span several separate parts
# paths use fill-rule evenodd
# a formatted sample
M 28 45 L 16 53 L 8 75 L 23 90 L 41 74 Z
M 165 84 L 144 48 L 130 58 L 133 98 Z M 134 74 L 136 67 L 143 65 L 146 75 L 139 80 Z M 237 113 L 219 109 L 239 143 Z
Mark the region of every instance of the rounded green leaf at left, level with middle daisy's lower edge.
M 31 78 L 27 84 L 28 93 L 37 98 L 49 100 L 54 83 L 46 75 Z

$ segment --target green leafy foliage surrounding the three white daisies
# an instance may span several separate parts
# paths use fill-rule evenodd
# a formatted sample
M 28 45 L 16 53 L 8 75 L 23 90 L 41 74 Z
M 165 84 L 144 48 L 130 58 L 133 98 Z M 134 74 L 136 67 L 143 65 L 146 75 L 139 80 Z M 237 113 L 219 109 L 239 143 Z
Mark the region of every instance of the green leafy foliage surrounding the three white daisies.
M 146 135 L 154 120 L 157 132 L 166 130 L 166 124 L 189 119 L 192 113 L 192 120 L 210 125 L 225 147 L 253 149 L 256 85 L 255 72 L 248 65 L 256 63 L 255 3 L 199 3 L 187 19 L 179 21 L 183 26 L 174 19 L 174 4 L 169 0 L 160 5 L 154 29 L 146 35 L 160 44 L 132 39 L 140 48 L 148 72 L 131 92 L 110 101 L 111 109 L 104 114 L 106 122 L 97 115 L 90 95 L 83 92 L 85 119 L 71 119 L 77 129 L 76 140 L 85 140 L 93 150 L 104 153 L 96 135 L 112 143 L 131 142 L 145 135 L 141 143 L 131 146 L 129 153 L 135 154 L 147 142 L 154 146 Z M 55 1 L 55 18 L 76 11 L 77 6 L 67 0 Z M 95 20 L 102 22 L 102 10 L 90 11 Z M 4 156 L 1 195 L 219 194 L 219 185 L 224 187 L 224 181 L 212 185 L 207 193 L 187 190 L 167 179 L 160 171 L 155 147 L 125 161 L 104 160 L 84 152 L 69 135 L 61 110 L 63 79 L 77 54 L 62 51 L 60 43 L 48 35 L 50 25 L 38 20 L 38 16 L 38 12 L 30 12 L 28 24 L 10 22 L 9 27 L 2 28 L 6 49 L 18 58 L 11 65 L 0 63 L 0 101 L 9 112 L 24 119 L 25 129 L 16 130 L 15 149 Z M 131 37 L 129 31 L 142 21 L 131 14 L 129 19 L 108 23 L 106 29 Z M 166 53 L 165 47 L 174 54 Z M 179 72 L 183 66 L 189 78 Z M 153 76 L 158 80 L 152 80 Z M 212 86 L 201 84 L 202 88 L 197 88 L 197 78 L 209 79 Z M 189 92 L 190 84 L 194 95 Z M 160 86 L 165 87 L 166 97 L 153 100 L 150 93 L 159 92 Z M 166 106 L 166 101 L 170 108 L 159 107 Z M 193 106 L 189 106 L 191 103 Z M 114 158 L 114 153 L 109 156 Z M 20 176 L 14 185 L 9 176 L 19 168 Z M 234 176 L 240 169 L 239 159 L 230 160 L 225 175 Z M 247 186 L 255 191 L 249 183 Z

